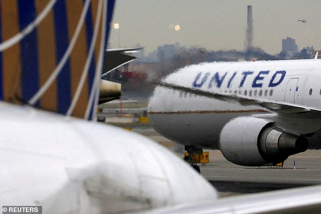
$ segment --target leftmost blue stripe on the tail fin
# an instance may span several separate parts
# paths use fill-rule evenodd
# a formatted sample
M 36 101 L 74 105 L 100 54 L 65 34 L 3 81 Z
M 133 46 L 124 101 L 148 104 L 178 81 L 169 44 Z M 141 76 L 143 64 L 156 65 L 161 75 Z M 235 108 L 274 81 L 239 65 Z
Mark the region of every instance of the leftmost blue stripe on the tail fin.
M 22 30 L 36 17 L 34 1 L 19 0 L 18 11 L 19 27 Z M 39 89 L 37 30 L 27 34 L 20 46 L 22 101 L 27 102 Z M 35 105 L 39 106 L 39 101 Z

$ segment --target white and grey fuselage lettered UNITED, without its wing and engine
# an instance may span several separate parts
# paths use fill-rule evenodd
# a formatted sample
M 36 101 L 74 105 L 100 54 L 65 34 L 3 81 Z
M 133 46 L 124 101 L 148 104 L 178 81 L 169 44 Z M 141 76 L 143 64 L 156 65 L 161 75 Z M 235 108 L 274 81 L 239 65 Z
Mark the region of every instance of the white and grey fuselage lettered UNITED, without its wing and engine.
M 321 61 L 284 60 L 202 63 L 167 76 L 169 84 L 255 100 L 273 100 L 321 108 Z M 269 114 L 266 114 L 269 113 Z M 218 148 L 223 126 L 232 118 L 260 114 L 298 135 L 320 129 L 321 118 L 271 114 L 262 107 L 240 105 L 156 87 L 148 106 L 155 130 L 184 145 Z

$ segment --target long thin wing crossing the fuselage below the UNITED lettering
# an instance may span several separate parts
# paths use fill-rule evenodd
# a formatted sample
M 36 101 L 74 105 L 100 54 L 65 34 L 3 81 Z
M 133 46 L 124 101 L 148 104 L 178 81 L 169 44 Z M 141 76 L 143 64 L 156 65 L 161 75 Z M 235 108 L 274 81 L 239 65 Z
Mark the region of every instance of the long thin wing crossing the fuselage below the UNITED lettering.
M 210 91 L 199 90 L 195 88 L 188 88 L 185 86 L 167 83 L 167 82 L 158 82 L 157 85 L 162 87 L 180 90 L 186 93 L 191 93 L 195 95 L 205 96 L 209 98 L 214 98 L 221 101 L 227 101 L 230 103 L 239 103 L 245 106 L 260 106 L 266 108 L 269 111 L 278 113 L 278 114 L 303 114 L 305 117 L 321 117 L 321 109 L 307 107 L 303 105 L 296 105 L 286 102 L 271 101 L 266 99 L 252 99 L 250 97 L 238 95 L 238 94 L 219 94 Z

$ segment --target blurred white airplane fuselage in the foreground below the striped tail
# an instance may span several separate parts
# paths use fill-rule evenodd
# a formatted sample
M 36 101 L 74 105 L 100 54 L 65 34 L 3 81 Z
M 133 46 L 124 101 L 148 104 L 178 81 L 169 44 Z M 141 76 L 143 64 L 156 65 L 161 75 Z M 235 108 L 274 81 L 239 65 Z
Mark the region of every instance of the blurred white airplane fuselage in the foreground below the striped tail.
M 0 102 L 0 201 L 43 213 L 117 213 L 213 200 L 175 154 L 112 127 Z

